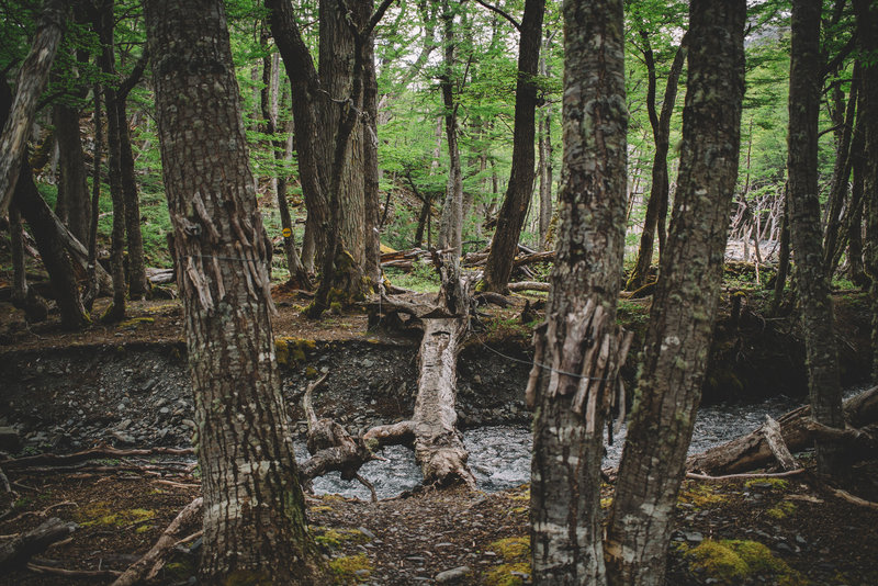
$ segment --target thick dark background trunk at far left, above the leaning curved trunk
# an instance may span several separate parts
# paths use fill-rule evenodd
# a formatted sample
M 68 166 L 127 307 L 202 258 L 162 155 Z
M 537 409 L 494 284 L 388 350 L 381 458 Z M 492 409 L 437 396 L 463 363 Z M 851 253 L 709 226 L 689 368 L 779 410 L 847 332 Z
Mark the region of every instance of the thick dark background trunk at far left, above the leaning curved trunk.
M 58 139 L 57 214 L 80 243 L 89 239 L 89 189 L 86 182 L 86 158 L 79 134 L 79 109 L 56 104 L 52 110 L 55 136 Z

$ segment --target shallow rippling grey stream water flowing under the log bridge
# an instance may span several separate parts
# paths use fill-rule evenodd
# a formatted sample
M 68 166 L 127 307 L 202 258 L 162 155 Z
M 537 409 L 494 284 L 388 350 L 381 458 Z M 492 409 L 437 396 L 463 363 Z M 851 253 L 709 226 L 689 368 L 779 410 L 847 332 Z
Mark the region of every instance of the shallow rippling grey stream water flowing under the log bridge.
M 862 388 L 845 393 L 851 396 Z M 765 416 L 778 418 L 801 405 L 800 401 L 786 396 L 772 397 L 758 403 L 707 405 L 699 409 L 689 446 L 689 454 L 703 452 L 743 433 L 750 432 L 765 421 Z M 622 426 L 607 446 L 604 467 L 618 466 L 627 429 Z M 475 475 L 480 491 L 487 493 L 504 491 L 530 482 L 530 428 L 524 426 L 489 426 L 469 429 L 463 441 L 470 450 L 470 470 Z M 606 442 L 606 435 L 605 435 Z M 396 496 L 420 485 L 420 469 L 412 450 L 402 446 L 383 448 L 380 455 L 386 462 L 369 462 L 360 474 L 375 486 L 379 498 Z M 296 444 L 296 458 L 307 458 L 304 442 Z M 346 482 L 334 472 L 314 481 L 317 494 L 339 494 L 363 500 L 370 498 L 369 491 L 360 483 Z

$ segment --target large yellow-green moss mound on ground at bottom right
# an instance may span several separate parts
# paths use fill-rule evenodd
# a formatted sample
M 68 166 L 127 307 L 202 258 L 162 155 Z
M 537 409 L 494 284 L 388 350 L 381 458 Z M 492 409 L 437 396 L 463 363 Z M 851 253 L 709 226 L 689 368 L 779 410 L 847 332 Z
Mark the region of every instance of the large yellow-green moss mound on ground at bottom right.
M 684 556 L 691 571 L 703 573 L 718 584 L 740 584 L 754 574 L 770 574 L 774 583 L 784 586 L 808 584 L 801 574 L 757 541 L 708 540 Z

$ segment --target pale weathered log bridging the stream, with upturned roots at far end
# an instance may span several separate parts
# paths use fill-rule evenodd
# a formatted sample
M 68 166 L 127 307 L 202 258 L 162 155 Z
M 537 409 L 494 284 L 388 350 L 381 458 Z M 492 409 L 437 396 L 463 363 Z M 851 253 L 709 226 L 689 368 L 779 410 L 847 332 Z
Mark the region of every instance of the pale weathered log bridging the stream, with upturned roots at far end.
M 475 486 L 475 477 L 466 466 L 469 452 L 458 431 L 457 362 L 465 339 L 470 317 L 470 282 L 460 278 L 458 260 L 450 255 L 443 260 L 434 256 L 440 267 L 442 290 L 432 305 L 416 303 L 382 303 L 382 319 L 390 314 L 405 325 L 423 328 L 420 342 L 418 395 L 412 419 L 393 425 L 373 427 L 363 439 L 369 444 L 406 444 L 415 450 L 425 484 L 448 485 L 463 483 Z M 393 319 L 389 319 L 393 322 Z

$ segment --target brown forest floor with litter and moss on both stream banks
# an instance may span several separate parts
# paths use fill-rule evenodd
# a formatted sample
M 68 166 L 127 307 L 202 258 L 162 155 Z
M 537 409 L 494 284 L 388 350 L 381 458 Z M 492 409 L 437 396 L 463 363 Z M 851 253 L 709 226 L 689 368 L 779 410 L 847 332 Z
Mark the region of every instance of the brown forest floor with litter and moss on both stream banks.
M 280 289 L 275 301 L 278 337 L 390 341 L 368 329 L 363 313 L 311 322 L 300 316 L 306 298 Z M 503 312 L 491 309 L 494 319 L 485 339 L 527 340 L 528 328 L 518 320 L 522 303 L 519 300 Z M 643 322 L 648 306 L 649 302 L 627 302 L 623 313 Z M 858 328 L 860 313 L 862 308 L 843 311 L 842 323 L 847 315 L 848 326 Z M 56 322 L 26 326 L 11 306 L 0 304 L 0 362 L 11 353 L 49 357 L 71 347 L 91 351 L 180 345 L 183 339 L 176 301 L 135 302 L 128 315 L 123 324 L 95 324 L 71 334 L 58 329 Z M 739 316 L 735 327 L 746 329 L 745 318 L 746 314 Z M 723 327 L 728 329 L 728 323 Z M 856 346 L 862 333 L 852 334 L 851 327 L 842 336 Z M 746 352 L 746 343 L 738 343 L 734 351 Z M 108 401 L 98 395 L 78 398 L 94 404 Z M 31 401 L 29 407 L 35 412 L 57 408 L 48 393 L 33 394 Z M 144 410 L 130 408 L 128 418 L 154 416 L 155 405 L 136 399 L 132 405 Z M 0 426 L 7 425 L 4 417 L 0 414 Z M 808 463 L 810 457 L 804 454 L 802 460 Z M 0 519 L 0 546 L 48 517 L 79 527 L 70 539 L 32 560 L 30 570 L 0 576 L 0 585 L 109 584 L 114 572 L 148 550 L 179 510 L 200 494 L 198 471 L 189 461 L 160 453 L 103 458 L 74 470 L 43 467 L 5 466 L 18 496 L 12 511 Z M 810 465 L 808 470 L 784 480 L 685 481 L 666 584 L 878 584 L 878 510 L 842 498 L 813 475 Z M 848 478 L 838 482 L 860 498 L 878 502 L 878 461 L 858 464 Z M 604 492 L 601 507 L 606 509 L 612 498 L 611 482 Z M 528 584 L 528 503 L 527 486 L 493 494 L 425 488 L 378 503 L 340 496 L 307 498 L 313 534 L 336 583 L 375 585 Z M 199 529 L 193 525 L 182 534 Z M 157 583 L 193 584 L 200 543 L 196 536 L 180 543 Z M 93 574 L 65 576 L 61 570 Z

